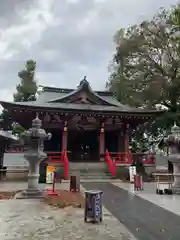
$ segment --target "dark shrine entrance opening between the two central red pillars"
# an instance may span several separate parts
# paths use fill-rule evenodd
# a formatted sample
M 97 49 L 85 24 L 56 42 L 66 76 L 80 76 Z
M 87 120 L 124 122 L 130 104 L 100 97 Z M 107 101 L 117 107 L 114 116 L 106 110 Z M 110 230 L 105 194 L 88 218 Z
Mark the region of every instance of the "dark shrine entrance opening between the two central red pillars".
M 68 156 L 71 162 L 99 161 L 99 132 L 69 131 Z

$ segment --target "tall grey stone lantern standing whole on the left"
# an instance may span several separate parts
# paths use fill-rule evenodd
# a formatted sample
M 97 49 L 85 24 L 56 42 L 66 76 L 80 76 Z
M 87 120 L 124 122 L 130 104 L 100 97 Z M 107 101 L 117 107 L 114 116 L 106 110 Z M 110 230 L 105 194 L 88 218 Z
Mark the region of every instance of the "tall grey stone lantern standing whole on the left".
M 29 163 L 28 188 L 17 198 L 40 198 L 41 190 L 38 189 L 39 165 L 47 158 L 44 150 L 44 140 L 51 139 L 51 133 L 46 133 L 41 128 L 42 121 L 38 116 L 32 121 L 32 128 L 21 134 L 25 145 L 24 158 Z

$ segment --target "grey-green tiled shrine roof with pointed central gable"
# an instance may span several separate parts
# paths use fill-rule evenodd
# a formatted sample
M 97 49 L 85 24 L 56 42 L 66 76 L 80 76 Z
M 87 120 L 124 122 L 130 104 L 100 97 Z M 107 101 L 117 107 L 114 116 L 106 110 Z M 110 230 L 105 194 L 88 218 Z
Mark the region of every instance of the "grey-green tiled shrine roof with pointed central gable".
M 78 96 L 80 91 L 85 91 L 89 96 L 95 99 L 98 104 L 87 104 L 87 103 L 70 103 L 71 98 Z M 33 102 L 4 102 L 0 101 L 0 104 L 4 108 L 26 108 L 26 109 L 37 109 L 37 110 L 65 110 L 65 111 L 93 111 L 93 112 L 108 112 L 108 113 L 133 113 L 133 114 L 157 114 L 162 111 L 145 110 L 139 108 L 131 108 L 130 106 L 123 105 L 118 102 L 111 92 L 107 91 L 93 91 L 84 78 L 77 89 L 65 89 L 65 88 L 54 88 L 54 87 L 43 87 L 43 91 L 40 93 L 39 98 Z

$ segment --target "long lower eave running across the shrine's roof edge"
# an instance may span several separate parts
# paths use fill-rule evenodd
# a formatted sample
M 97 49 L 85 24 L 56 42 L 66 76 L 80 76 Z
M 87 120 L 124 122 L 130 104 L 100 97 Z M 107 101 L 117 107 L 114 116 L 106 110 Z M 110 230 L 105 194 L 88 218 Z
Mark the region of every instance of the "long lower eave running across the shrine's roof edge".
M 54 104 L 44 103 L 38 104 L 36 102 L 5 102 L 0 101 L 0 104 L 5 109 L 14 111 L 36 111 L 36 112 L 57 112 L 57 113 L 78 113 L 78 114 L 99 114 L 99 115 L 112 115 L 112 116 L 134 116 L 134 117 L 158 117 L 165 113 L 165 110 L 144 110 L 133 109 L 133 111 L 122 110 L 114 106 L 99 106 L 84 104 L 83 107 L 80 104 Z

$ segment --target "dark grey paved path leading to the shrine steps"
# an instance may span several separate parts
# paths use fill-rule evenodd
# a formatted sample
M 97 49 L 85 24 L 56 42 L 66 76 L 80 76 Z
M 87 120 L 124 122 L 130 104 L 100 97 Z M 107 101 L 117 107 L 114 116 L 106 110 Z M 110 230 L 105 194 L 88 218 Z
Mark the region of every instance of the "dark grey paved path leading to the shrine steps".
M 105 207 L 138 240 L 179 240 L 180 217 L 110 183 L 83 183 L 104 192 Z

